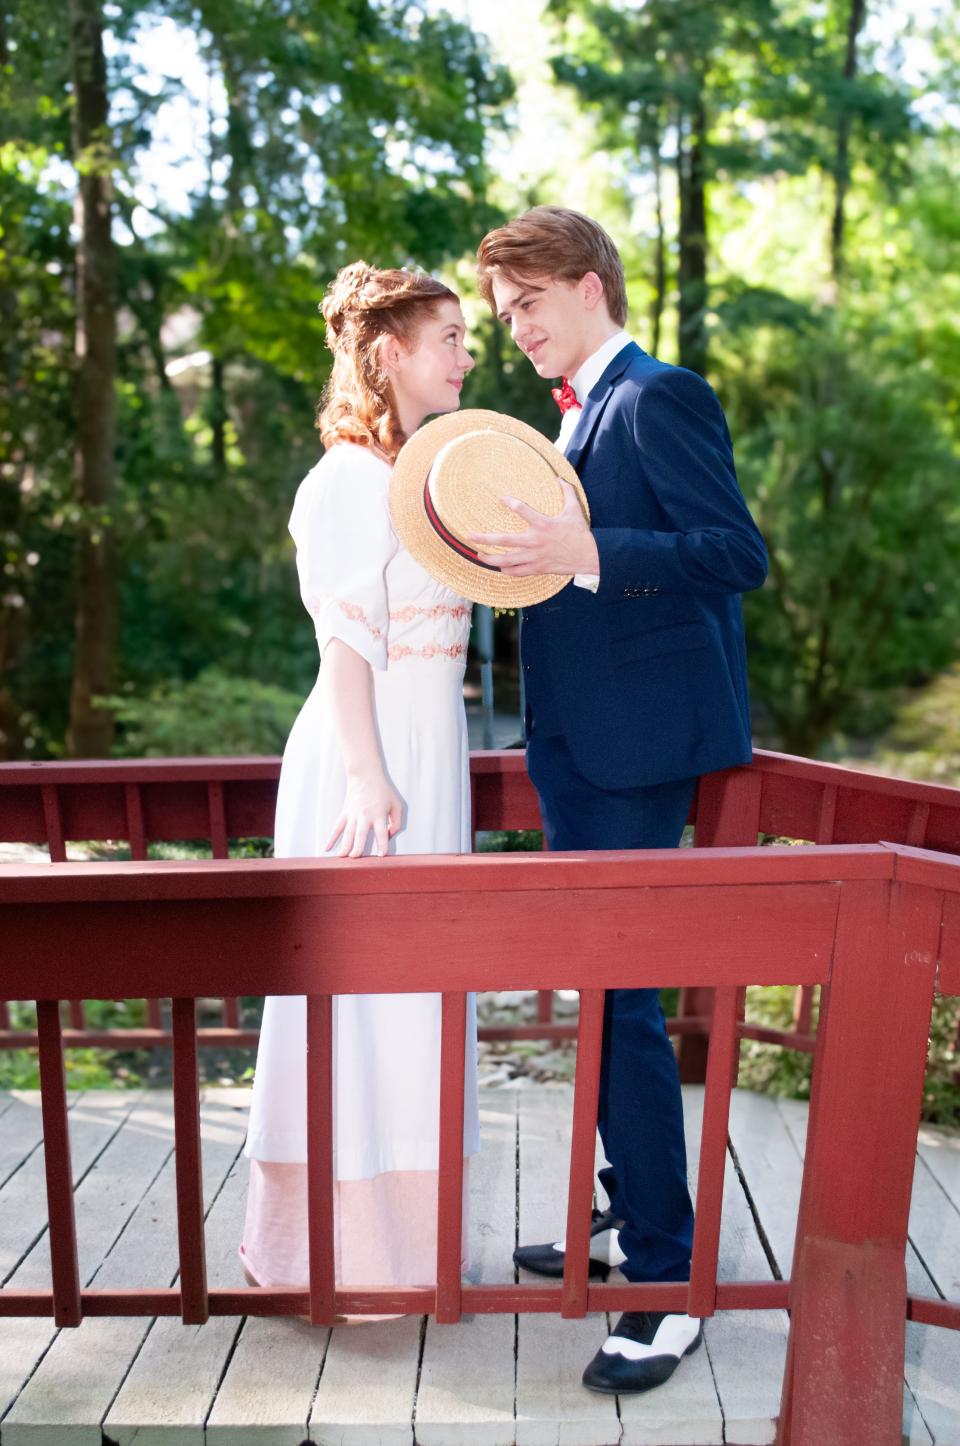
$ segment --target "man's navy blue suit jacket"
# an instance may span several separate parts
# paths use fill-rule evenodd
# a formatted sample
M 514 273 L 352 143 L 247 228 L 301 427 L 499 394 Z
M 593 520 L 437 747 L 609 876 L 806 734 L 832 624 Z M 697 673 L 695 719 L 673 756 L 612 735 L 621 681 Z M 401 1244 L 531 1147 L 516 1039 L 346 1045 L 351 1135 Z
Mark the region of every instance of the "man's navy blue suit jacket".
M 630 343 L 590 392 L 568 458 L 590 502 L 597 593 L 570 583 L 523 610 L 535 729 L 616 790 L 747 763 L 740 594 L 766 548 L 711 388 Z

